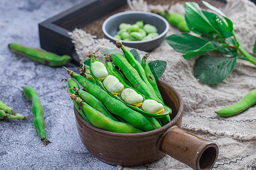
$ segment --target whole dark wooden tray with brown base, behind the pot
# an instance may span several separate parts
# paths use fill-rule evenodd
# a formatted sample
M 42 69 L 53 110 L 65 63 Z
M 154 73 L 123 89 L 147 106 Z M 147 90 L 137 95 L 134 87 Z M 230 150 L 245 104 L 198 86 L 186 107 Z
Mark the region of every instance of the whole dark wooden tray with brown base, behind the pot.
M 177 2 L 184 3 L 185 0 L 146 0 L 146 2 L 152 5 L 174 5 Z M 199 0 L 195 2 L 202 5 Z M 217 7 L 225 5 L 225 0 L 208 0 L 208 2 Z M 82 28 L 87 33 L 102 38 L 104 34 L 101 25 L 104 20 L 117 12 L 124 11 L 127 7 L 126 0 L 85 0 L 81 4 L 39 23 L 41 48 L 60 56 L 67 54 L 73 58 L 73 63 L 79 64 L 75 46 L 68 32 L 72 32 L 75 28 Z

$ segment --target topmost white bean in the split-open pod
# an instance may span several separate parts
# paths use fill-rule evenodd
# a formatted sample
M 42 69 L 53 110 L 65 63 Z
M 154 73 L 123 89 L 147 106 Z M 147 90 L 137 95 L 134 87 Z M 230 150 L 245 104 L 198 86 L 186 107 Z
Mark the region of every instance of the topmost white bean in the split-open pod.
M 93 75 L 100 80 L 108 76 L 108 70 L 106 69 L 105 65 L 100 61 L 93 62 L 91 69 Z

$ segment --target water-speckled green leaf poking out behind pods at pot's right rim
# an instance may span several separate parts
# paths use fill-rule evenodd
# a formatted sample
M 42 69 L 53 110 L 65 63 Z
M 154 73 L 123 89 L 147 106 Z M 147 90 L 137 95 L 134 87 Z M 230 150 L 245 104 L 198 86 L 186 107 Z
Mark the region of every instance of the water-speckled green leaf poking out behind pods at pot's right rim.
M 167 62 L 163 60 L 154 60 L 149 62 L 148 66 L 150 67 L 150 70 L 152 71 L 155 80 L 158 80 L 166 70 Z

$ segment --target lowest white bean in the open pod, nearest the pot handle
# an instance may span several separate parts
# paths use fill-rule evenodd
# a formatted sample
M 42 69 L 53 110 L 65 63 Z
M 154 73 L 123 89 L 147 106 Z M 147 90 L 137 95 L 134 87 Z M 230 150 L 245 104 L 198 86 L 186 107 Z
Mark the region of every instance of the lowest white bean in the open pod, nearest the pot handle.
M 142 109 L 148 113 L 163 113 L 163 105 L 155 100 L 147 99 L 142 103 Z

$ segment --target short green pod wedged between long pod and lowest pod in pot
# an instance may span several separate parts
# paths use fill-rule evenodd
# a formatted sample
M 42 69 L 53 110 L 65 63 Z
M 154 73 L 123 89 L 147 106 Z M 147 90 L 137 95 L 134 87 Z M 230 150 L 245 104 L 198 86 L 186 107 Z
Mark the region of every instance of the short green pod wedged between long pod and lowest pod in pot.
M 73 90 L 80 97 L 80 99 L 85 101 L 85 103 L 89 104 L 91 107 L 101 112 L 102 114 L 105 114 L 106 117 L 109 117 L 114 121 L 118 121 L 115 117 L 112 116 L 112 114 L 109 113 L 105 105 L 102 104 L 101 101 L 98 100 L 96 97 L 94 97 L 86 91 L 79 90 L 78 88 L 73 88 Z

